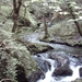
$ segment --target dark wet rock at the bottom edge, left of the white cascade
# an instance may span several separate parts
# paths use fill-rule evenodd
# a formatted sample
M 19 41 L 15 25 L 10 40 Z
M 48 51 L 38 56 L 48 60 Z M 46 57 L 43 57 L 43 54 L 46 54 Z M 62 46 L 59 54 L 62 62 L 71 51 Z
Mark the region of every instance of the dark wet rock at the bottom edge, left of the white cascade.
M 44 79 L 45 75 L 43 74 L 43 72 L 40 70 L 37 70 L 36 72 L 33 72 L 28 78 L 27 78 L 27 82 L 36 82 L 38 79 Z

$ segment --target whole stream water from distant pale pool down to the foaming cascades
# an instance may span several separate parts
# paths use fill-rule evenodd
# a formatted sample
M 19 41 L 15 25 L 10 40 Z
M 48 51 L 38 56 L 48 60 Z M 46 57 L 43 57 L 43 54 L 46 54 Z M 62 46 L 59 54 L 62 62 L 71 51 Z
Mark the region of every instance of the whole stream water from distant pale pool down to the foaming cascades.
M 39 37 L 39 34 L 36 33 L 32 35 L 26 35 L 24 39 L 25 40 L 27 39 L 28 42 L 32 42 L 32 43 L 46 44 L 51 46 L 54 49 L 34 56 L 34 59 L 38 62 L 42 71 L 45 74 L 45 78 L 39 79 L 37 82 L 71 82 L 78 78 L 81 78 L 79 69 L 82 68 L 82 57 L 81 58 L 72 57 L 72 55 L 82 55 L 81 48 L 70 47 L 70 46 L 60 45 L 60 44 L 50 44 L 50 43 L 39 42 L 38 37 Z M 59 56 L 67 57 L 70 61 L 69 68 L 72 70 L 72 74 L 67 77 L 66 75 L 52 77 L 52 72 L 57 68 L 57 61 L 51 59 L 49 55 L 59 55 Z M 45 70 L 45 68 L 43 68 L 40 60 L 49 62 L 51 67 L 49 68 L 47 66 L 45 67 L 47 70 Z

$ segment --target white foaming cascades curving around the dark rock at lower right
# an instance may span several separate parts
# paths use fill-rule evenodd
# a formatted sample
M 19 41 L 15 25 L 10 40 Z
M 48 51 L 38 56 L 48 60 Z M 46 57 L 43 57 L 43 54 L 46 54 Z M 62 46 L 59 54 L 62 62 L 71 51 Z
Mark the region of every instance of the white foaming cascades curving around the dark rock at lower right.
M 51 69 L 48 70 L 48 71 L 45 73 L 45 79 L 39 79 L 37 82 L 71 82 L 71 81 L 73 81 L 73 80 L 80 78 L 79 69 L 80 69 L 82 66 L 77 66 L 77 67 L 75 67 L 75 65 L 74 65 L 73 62 L 71 62 L 71 63 L 70 63 L 70 69 L 71 69 L 72 72 L 73 72 L 72 75 L 69 75 L 69 77 L 60 77 L 59 80 L 58 80 L 58 78 L 52 77 L 52 72 L 54 72 L 54 70 L 56 69 L 56 66 L 55 66 L 55 65 L 57 65 L 57 63 L 55 62 L 55 60 L 52 60 L 52 59 L 47 59 L 47 58 L 43 57 L 43 55 L 42 55 L 42 58 L 43 58 L 44 60 L 50 62 Z

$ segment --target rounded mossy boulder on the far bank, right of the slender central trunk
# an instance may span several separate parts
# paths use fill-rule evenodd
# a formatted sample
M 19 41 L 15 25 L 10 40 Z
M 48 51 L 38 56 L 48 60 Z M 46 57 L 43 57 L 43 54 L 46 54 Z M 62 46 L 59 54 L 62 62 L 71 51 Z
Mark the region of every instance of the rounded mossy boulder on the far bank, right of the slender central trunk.
M 52 25 L 48 32 L 56 36 L 72 36 L 75 35 L 78 31 L 73 22 L 69 23 L 68 20 L 65 20 Z

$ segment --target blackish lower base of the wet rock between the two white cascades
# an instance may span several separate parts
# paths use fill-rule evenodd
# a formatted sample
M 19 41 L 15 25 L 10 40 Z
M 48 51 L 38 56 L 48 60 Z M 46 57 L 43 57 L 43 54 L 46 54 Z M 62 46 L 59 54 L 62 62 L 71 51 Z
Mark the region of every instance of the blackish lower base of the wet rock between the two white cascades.
M 72 75 L 72 70 L 68 66 L 56 68 L 54 73 L 54 77 L 67 77 Z

